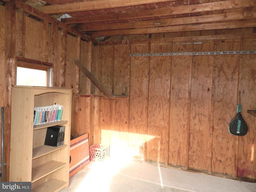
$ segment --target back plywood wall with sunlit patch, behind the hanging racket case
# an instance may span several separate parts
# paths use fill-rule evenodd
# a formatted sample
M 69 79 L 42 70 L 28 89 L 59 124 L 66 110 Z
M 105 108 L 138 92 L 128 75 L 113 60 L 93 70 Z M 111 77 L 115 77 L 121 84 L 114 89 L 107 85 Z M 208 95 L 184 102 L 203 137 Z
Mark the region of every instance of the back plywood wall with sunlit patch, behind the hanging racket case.
M 110 145 L 111 156 L 255 180 L 256 118 L 246 112 L 256 107 L 255 54 L 130 56 L 256 50 L 255 39 L 181 39 L 106 44 L 92 52 L 100 54 L 100 81 L 119 96 L 80 96 L 80 107 L 95 117 L 93 129 L 80 128 L 92 143 Z M 239 91 L 248 125 L 240 137 L 228 133 Z

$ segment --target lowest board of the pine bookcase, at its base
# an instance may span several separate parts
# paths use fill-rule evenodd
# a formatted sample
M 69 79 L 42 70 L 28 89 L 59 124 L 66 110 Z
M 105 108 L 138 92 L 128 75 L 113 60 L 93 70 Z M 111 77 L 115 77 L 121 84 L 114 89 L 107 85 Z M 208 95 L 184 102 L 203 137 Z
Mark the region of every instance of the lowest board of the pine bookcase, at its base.
M 49 189 L 51 189 L 51 191 L 53 192 L 58 192 L 66 186 L 68 187 L 68 184 L 64 181 L 49 179 L 48 181 L 43 182 L 39 186 L 32 188 L 32 192 L 46 192 L 49 191 Z

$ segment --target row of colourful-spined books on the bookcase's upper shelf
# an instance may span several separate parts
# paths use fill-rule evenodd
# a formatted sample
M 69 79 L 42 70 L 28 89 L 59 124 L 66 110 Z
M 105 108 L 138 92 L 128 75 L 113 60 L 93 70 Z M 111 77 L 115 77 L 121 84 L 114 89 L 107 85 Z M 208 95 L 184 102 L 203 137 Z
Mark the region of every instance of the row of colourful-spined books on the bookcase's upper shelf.
M 63 106 L 54 104 L 52 106 L 34 107 L 34 125 L 60 121 Z

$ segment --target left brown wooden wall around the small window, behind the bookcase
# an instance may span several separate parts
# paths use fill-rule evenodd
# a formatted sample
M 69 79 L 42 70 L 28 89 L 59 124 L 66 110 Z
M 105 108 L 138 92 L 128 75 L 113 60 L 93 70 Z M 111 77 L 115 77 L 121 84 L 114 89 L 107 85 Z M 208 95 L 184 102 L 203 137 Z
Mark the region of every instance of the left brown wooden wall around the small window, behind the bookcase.
M 54 87 L 73 88 L 70 124 L 71 134 L 76 136 L 79 133 L 77 116 L 80 72 L 74 60 L 80 57 L 84 59 L 82 54 L 80 56 L 80 48 L 83 49 L 87 44 L 89 48 L 92 47 L 92 43 L 85 43 L 81 36 L 23 2 L 0 5 L 0 107 L 4 107 L 6 163 L 4 181 L 9 180 L 11 97 L 12 86 L 16 84 L 17 61 L 22 60 L 25 65 L 42 66 L 47 63 L 47 66 L 53 68 Z

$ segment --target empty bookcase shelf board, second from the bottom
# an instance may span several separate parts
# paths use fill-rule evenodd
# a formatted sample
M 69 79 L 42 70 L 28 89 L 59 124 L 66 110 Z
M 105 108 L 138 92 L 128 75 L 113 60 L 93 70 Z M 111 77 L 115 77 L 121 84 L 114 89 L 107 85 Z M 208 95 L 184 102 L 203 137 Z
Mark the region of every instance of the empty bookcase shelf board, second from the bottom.
M 66 166 L 64 162 L 51 160 L 45 164 L 32 168 L 32 183 Z

